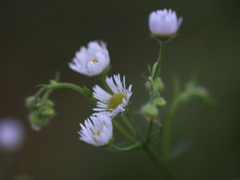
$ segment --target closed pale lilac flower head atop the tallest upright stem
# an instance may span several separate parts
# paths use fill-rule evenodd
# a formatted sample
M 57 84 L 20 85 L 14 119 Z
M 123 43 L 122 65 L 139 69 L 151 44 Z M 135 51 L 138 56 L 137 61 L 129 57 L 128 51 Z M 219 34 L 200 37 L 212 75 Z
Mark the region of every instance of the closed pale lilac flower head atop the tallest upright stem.
M 157 10 L 149 15 L 149 29 L 152 34 L 170 36 L 175 34 L 183 18 L 178 18 L 175 11 L 171 9 Z

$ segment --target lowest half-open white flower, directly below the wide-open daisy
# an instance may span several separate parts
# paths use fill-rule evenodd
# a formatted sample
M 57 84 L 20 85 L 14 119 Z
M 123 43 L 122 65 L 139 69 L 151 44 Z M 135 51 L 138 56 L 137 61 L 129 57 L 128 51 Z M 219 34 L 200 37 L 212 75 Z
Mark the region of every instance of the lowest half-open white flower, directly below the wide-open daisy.
M 94 146 L 106 146 L 111 142 L 113 126 L 110 117 L 98 113 L 86 119 L 84 125 L 80 123 L 80 140 Z

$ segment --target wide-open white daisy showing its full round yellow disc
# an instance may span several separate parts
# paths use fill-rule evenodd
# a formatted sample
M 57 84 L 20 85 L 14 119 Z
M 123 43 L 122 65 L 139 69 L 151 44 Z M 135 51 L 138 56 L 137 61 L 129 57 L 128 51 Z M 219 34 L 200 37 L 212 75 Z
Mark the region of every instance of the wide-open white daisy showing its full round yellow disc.
M 120 74 L 114 75 L 113 78 L 107 77 L 106 83 L 112 90 L 113 94 L 109 94 L 98 85 L 93 87 L 93 96 L 99 100 L 99 102 L 97 102 L 98 108 L 94 108 L 93 110 L 102 111 L 108 116 L 114 117 L 125 111 L 129 102 L 129 98 L 132 95 L 132 85 L 130 85 L 127 89 L 125 84 L 125 76 L 123 77 L 122 82 Z

